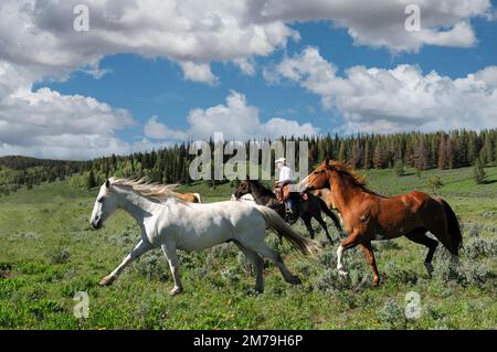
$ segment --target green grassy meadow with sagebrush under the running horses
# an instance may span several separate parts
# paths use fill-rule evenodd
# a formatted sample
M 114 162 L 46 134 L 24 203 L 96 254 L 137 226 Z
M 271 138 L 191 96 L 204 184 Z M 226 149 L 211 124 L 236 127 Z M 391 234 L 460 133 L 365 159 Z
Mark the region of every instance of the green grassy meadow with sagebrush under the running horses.
M 98 280 L 114 269 L 139 239 L 133 220 L 116 213 L 102 231 L 89 228 L 96 191 L 74 192 L 68 182 L 43 184 L 0 198 L 0 329 L 496 329 L 497 168 L 487 168 L 488 183 L 476 185 L 472 169 L 398 178 L 394 170 L 366 172 L 370 188 L 382 194 L 419 189 L 430 193 L 427 178 L 440 174 L 437 191 L 465 225 L 467 252 L 462 274 L 447 270 L 443 250 L 430 279 L 422 265 L 425 249 L 405 238 L 376 244 L 382 285 L 360 250 L 346 254 L 349 279 L 335 273 L 337 243 L 317 259 L 279 246 L 302 286 L 285 284 L 266 265 L 266 290 L 253 295 L 254 277 L 235 247 L 180 254 L 186 292 L 171 298 L 171 278 L 160 250 L 128 267 L 109 288 Z M 204 202 L 228 200 L 229 184 L 183 188 Z M 304 226 L 296 228 L 303 233 Z M 315 224 L 317 227 L 317 224 Z M 332 230 L 332 236 L 337 233 Z M 318 233 L 324 242 L 325 236 Z M 73 316 L 76 291 L 89 295 L 89 318 Z M 403 314 L 405 295 L 421 296 L 417 320 Z

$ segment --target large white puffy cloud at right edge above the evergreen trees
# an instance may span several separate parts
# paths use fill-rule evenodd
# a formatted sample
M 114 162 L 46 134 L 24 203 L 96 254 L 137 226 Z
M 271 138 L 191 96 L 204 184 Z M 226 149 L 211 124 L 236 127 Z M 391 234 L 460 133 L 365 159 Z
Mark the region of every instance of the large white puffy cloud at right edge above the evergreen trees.
M 413 65 L 393 70 L 353 66 L 345 77 L 315 47 L 286 57 L 266 71 L 266 79 L 288 79 L 337 109 L 342 130 L 391 132 L 486 128 L 497 126 L 497 66 L 452 79 L 436 72 L 423 75 Z

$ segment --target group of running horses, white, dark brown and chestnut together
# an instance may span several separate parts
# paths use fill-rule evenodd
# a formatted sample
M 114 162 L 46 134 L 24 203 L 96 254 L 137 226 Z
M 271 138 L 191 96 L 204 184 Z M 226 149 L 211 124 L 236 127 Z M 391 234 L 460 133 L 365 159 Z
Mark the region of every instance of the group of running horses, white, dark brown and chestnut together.
M 392 198 L 379 195 L 368 190 L 364 180 L 348 164 L 328 159 L 300 181 L 297 189 L 307 194 L 308 201 L 304 202 L 306 205 L 302 206 L 299 216 L 310 238 L 295 232 L 277 211 L 269 207 L 275 201 L 274 194 L 257 181 L 243 181 L 235 191 L 234 200 L 202 204 L 199 194 L 181 195 L 173 192 L 170 185 L 110 178 L 99 189 L 91 224 L 98 230 L 114 211 L 121 209 L 138 223 L 141 239 L 123 263 L 101 280 L 101 285 L 112 285 L 125 267 L 140 255 L 161 248 L 175 281 L 170 294 L 178 295 L 183 286 L 177 250 L 202 250 L 226 242 L 234 243 L 254 265 L 256 291 L 264 290 L 263 258 L 275 263 L 285 281 L 297 285 L 299 278 L 288 270 L 279 254 L 265 244 L 266 228 L 287 239 L 300 253 L 315 256 L 321 248 L 311 239 L 311 217 L 318 221 L 331 241 L 321 211 L 347 236 L 337 249 L 337 270 L 340 275 L 347 275 L 342 264 L 343 252 L 359 245 L 371 266 L 374 284 L 379 284 L 371 242 L 400 236 L 427 247 L 424 265 L 430 275 L 438 242 L 457 262 L 462 246 L 459 223 L 442 199 L 419 191 Z M 243 201 L 247 194 L 252 194 L 253 201 Z M 343 231 L 331 209 L 339 213 Z M 438 241 L 429 237 L 426 232 Z

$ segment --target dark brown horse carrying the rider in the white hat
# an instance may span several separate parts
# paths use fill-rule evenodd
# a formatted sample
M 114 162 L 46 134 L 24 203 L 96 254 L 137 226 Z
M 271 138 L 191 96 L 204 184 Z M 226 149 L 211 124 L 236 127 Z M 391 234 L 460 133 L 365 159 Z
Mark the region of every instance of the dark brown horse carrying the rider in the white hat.
M 240 199 L 241 196 L 245 194 L 252 194 L 254 198 L 255 203 L 260 205 L 265 205 L 268 207 L 274 209 L 283 218 L 285 218 L 285 205 L 282 204 L 276 195 L 265 188 L 261 182 L 256 180 L 244 180 L 240 182 L 240 185 L 236 188 L 234 195 L 236 199 Z M 307 201 L 303 201 L 297 206 L 298 209 L 298 216 L 304 221 L 304 224 L 307 227 L 307 231 L 309 232 L 310 238 L 314 239 L 314 228 L 310 223 L 311 218 L 316 218 L 316 221 L 321 225 L 321 227 L 325 230 L 326 237 L 332 242 L 331 236 L 328 233 L 328 226 L 326 225 L 325 221 L 321 216 L 321 210 L 328 215 L 331 221 L 335 223 L 335 226 L 337 230 L 341 233 L 341 225 L 340 221 L 338 220 L 337 215 L 335 215 L 328 206 L 326 206 L 326 203 L 318 199 L 317 196 L 313 194 L 307 195 Z

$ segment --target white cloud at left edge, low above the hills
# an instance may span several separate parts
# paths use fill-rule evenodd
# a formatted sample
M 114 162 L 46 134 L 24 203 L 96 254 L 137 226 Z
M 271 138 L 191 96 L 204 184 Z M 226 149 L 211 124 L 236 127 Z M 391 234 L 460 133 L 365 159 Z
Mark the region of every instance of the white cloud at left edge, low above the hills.
M 92 97 L 32 90 L 23 71 L 0 61 L 0 154 L 85 159 L 129 151 L 116 131 L 135 126 L 125 109 Z M 140 141 L 135 147 L 140 148 Z

